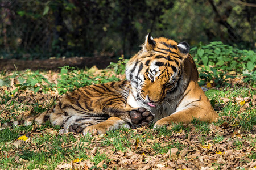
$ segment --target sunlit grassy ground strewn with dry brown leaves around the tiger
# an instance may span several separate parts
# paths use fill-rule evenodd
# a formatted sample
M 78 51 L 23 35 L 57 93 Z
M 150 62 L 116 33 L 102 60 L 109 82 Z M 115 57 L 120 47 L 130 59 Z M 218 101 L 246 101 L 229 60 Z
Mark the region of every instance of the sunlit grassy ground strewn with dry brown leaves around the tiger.
M 91 64 L 88 67 L 98 61 L 101 63 L 98 67 L 110 62 L 104 58 L 77 57 L 31 61 L 27 65 L 30 69 L 61 66 L 57 63 L 85 67 L 86 64 L 82 64 L 85 61 Z M 83 83 L 97 77 L 93 81 L 101 82 L 103 77 L 113 75 L 124 78 L 122 73 L 96 67 L 19 72 L 8 70 L 14 69 L 11 67 L 14 63 L 18 69 L 24 68 L 22 63 L 26 62 L 0 63 L 6 69 L 0 78 L 5 80 L 0 86 L 1 124 L 43 112 L 61 99 L 60 88 L 69 85 L 74 88 L 72 83 L 76 80 Z M 41 78 L 46 78 L 49 84 L 40 82 Z M 52 84 L 61 86 L 57 88 Z M 205 93 L 220 115 L 218 122 L 212 124 L 193 120 L 191 124 L 172 124 L 160 129 L 152 126 L 120 129 L 85 137 L 75 133 L 59 135 L 61 128 L 49 122 L 1 128 L 0 169 L 255 169 L 256 90 L 241 78 L 230 80 L 230 84 L 232 86 L 220 89 L 208 84 Z

